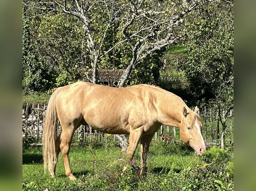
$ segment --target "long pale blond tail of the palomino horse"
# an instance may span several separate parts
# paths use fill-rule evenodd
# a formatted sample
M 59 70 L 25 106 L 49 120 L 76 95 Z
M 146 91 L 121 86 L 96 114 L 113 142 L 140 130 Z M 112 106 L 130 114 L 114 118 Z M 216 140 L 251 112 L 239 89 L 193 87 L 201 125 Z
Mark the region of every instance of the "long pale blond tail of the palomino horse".
M 47 165 L 50 175 L 53 175 L 55 164 L 57 163 L 57 156 L 55 151 L 55 129 L 57 127 L 57 110 L 56 110 L 56 95 L 60 88 L 56 89 L 51 95 L 43 127 L 43 161 L 44 161 L 44 172 L 46 172 Z

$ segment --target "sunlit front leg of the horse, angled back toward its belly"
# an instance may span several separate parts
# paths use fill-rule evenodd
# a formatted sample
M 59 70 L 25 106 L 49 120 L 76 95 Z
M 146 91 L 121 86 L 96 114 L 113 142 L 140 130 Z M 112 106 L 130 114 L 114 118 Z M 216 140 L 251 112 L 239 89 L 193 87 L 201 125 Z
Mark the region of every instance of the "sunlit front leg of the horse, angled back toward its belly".
M 134 130 L 131 130 L 130 136 L 129 136 L 129 146 L 127 147 L 127 155 L 126 155 L 126 160 L 127 162 L 130 162 L 131 159 L 133 158 L 136 148 L 139 144 L 139 141 L 142 137 L 142 132 L 143 132 L 143 126 L 136 128 Z M 127 169 L 128 163 L 125 164 L 123 173 Z M 123 175 L 122 173 L 122 175 Z

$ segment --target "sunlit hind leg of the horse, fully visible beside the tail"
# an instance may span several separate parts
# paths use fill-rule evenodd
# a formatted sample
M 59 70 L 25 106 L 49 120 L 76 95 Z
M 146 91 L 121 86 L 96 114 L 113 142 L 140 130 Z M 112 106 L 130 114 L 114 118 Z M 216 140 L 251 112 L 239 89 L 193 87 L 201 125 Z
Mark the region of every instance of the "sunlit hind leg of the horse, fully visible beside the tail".
M 69 151 L 70 151 L 70 145 L 73 139 L 73 135 L 75 132 L 75 127 L 72 125 L 62 125 L 62 132 L 60 136 L 60 150 L 64 161 L 65 166 L 65 172 L 66 175 L 71 180 L 76 180 L 77 178 L 73 175 L 71 168 L 70 168 L 70 162 L 69 162 Z

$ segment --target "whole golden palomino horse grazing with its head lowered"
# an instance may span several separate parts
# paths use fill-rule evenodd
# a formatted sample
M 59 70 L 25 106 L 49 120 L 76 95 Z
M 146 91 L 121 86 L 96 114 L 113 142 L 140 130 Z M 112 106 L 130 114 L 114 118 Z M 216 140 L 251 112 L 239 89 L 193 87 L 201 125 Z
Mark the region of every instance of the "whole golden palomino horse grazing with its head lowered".
M 127 161 L 140 142 L 141 173 L 151 139 L 161 124 L 179 127 L 181 140 L 202 154 L 206 146 L 198 112 L 198 107 L 189 109 L 179 96 L 150 85 L 113 88 L 77 82 L 57 88 L 50 97 L 43 129 L 44 170 L 48 166 L 51 177 L 55 176 L 61 151 L 66 175 L 76 179 L 68 155 L 74 132 L 81 124 L 104 133 L 130 134 Z M 56 138 L 57 117 L 62 131 Z

